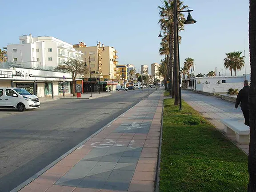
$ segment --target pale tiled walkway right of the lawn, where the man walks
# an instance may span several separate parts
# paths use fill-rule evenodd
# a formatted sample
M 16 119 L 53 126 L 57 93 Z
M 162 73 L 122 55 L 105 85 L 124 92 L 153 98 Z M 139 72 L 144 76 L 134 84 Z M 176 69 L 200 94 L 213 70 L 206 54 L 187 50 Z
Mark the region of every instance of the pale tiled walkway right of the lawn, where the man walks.
M 224 124 L 221 119 L 234 119 L 244 121 L 243 113 L 240 109 L 235 108 L 235 104 L 213 96 L 204 96 L 198 93 L 183 91 L 183 100 L 186 101 L 192 108 L 200 112 L 221 132 L 224 132 Z M 226 135 L 230 140 L 235 141 L 234 135 Z M 236 144 L 245 153 L 248 154 L 248 144 Z

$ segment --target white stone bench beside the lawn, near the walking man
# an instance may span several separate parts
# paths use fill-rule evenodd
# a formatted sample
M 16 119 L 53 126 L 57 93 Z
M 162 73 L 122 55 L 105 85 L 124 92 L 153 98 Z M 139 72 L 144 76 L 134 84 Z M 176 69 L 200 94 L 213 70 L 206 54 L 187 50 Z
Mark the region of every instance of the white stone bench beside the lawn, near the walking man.
M 221 123 L 225 125 L 225 133 L 236 135 L 237 143 L 249 143 L 250 128 L 244 124 L 242 119 L 224 119 Z

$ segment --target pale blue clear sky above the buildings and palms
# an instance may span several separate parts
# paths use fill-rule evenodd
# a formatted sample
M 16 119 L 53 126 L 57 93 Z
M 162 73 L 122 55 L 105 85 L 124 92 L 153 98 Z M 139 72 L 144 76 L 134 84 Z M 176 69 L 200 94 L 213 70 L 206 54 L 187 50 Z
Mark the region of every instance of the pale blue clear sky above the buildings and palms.
M 42 3 L 44 2 L 44 3 Z M 0 48 L 17 44 L 22 34 L 54 36 L 70 44 L 100 41 L 118 51 L 119 64 L 160 63 L 160 0 L 12 0 L 1 4 Z M 184 0 L 196 24 L 180 32 L 180 64 L 192 57 L 196 73 L 223 68 L 225 53 L 248 51 L 249 0 Z M 10 12 L 11 10 L 11 12 Z M 184 13 L 187 17 L 187 13 Z M 151 72 L 151 71 L 150 71 Z M 238 74 L 244 74 L 244 69 Z

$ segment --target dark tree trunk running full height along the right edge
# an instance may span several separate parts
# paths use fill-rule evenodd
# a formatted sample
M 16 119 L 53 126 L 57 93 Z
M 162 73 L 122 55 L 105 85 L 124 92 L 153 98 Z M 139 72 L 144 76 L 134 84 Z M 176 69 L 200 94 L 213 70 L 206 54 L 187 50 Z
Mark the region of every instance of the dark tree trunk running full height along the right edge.
M 256 192 L 256 0 L 250 0 L 249 49 L 251 62 L 250 144 L 248 156 L 248 192 Z

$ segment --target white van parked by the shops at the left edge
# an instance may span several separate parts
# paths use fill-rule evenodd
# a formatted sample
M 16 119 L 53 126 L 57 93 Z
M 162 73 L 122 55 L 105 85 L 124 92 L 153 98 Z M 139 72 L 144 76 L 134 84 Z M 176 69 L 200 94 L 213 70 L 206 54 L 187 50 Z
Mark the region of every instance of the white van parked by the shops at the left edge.
M 40 107 L 37 96 L 24 88 L 0 88 L 0 108 L 17 108 L 19 112 Z

